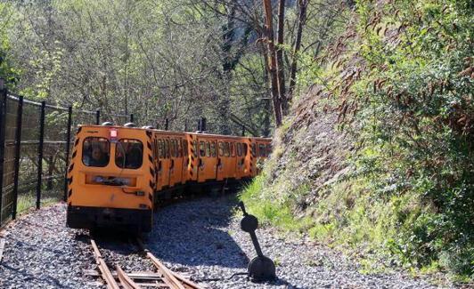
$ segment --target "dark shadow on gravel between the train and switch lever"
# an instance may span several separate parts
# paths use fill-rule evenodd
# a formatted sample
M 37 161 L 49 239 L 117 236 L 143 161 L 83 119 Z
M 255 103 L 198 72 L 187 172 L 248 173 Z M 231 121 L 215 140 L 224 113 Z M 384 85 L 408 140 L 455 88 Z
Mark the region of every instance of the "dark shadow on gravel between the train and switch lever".
M 245 270 L 249 262 L 229 226 L 235 196 L 200 197 L 162 207 L 145 245 L 163 261 Z

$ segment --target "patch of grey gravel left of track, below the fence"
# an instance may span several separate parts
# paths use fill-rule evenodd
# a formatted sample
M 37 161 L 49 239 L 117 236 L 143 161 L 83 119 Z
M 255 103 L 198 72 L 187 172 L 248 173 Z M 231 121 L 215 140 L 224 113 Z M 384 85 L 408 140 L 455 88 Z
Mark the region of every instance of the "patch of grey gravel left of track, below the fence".
M 12 222 L 4 232 L 0 288 L 97 288 L 85 231 L 68 229 L 66 206 L 53 205 Z M 94 285 L 95 283 L 95 285 Z

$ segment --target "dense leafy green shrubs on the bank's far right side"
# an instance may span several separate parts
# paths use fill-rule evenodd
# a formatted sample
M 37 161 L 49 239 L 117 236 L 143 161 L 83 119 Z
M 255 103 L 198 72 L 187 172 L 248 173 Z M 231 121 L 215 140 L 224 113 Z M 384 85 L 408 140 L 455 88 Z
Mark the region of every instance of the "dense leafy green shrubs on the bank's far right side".
M 359 4 L 362 14 L 364 3 Z M 392 47 L 374 31 L 365 32 L 372 19 L 363 18 L 361 54 L 375 73 L 361 80 L 373 85 L 355 91 L 369 102 L 356 116 L 363 123 L 358 140 L 364 149 L 355 160 L 359 173 L 370 176 L 374 196 L 419 199 L 422 211 L 395 224 L 393 253 L 408 265 L 439 261 L 454 273 L 471 275 L 474 103 L 472 78 L 462 70 L 472 66 L 473 30 L 470 11 L 459 4 L 421 1 L 414 9 L 408 2 L 391 7 L 399 10 L 399 18 L 387 13 L 384 20 L 405 25 L 401 44 Z

